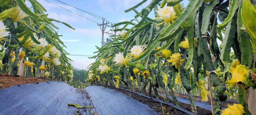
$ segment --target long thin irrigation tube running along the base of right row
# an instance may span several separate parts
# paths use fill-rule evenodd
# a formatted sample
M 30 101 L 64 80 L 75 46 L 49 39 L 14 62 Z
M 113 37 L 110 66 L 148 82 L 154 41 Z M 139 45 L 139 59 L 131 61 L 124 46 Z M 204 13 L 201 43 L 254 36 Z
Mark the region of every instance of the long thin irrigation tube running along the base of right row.
M 107 86 L 115 87 L 115 86 L 113 86 L 113 85 L 107 85 Z M 150 97 L 150 96 L 143 95 L 143 94 L 141 94 L 141 93 L 137 93 L 137 92 L 131 91 L 131 90 L 129 90 L 129 89 L 124 89 L 124 88 L 122 88 L 122 87 L 119 87 L 119 88 L 120 88 L 120 89 L 123 89 L 123 90 L 126 90 L 126 91 L 130 91 L 130 92 L 132 92 L 132 93 L 135 93 L 135 94 L 138 94 L 138 95 L 141 95 L 141 96 L 144 96 L 144 97 L 146 97 L 146 98 L 150 98 L 150 99 L 155 100 L 155 101 L 157 101 L 157 102 L 160 102 L 160 103 L 169 105 L 169 106 L 171 106 L 171 107 L 173 107 L 173 108 L 175 108 L 175 109 L 178 109 L 178 110 L 180 110 L 180 111 L 182 111 L 183 113 L 186 113 L 186 114 L 188 114 L 188 115 L 196 115 L 195 113 L 192 113 L 192 112 L 187 111 L 187 110 L 185 110 L 185 109 L 183 109 L 183 108 L 180 108 L 180 107 L 176 106 L 176 105 L 173 104 L 173 103 L 164 102 L 164 101 L 162 101 L 162 100 L 159 100 L 159 99 L 156 99 L 156 98 L 152 98 L 152 97 Z

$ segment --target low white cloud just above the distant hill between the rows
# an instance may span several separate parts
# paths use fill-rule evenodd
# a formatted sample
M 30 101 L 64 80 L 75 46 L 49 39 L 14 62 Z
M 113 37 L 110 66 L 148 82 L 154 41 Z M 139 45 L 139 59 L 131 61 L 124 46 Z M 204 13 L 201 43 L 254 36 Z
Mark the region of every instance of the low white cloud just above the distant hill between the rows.
M 69 56 L 69 57 L 71 57 L 71 56 Z M 73 62 L 71 64 L 73 65 L 73 67 L 76 67 L 76 68 L 79 68 L 79 69 L 88 69 L 88 65 L 95 62 L 95 59 L 88 59 L 88 58 L 74 59 L 74 58 L 72 58 Z

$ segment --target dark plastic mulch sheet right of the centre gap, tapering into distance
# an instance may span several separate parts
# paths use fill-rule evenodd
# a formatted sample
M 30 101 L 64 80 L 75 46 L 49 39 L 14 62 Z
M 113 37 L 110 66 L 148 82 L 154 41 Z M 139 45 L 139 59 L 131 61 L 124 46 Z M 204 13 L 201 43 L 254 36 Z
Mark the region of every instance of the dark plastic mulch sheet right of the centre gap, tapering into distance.
M 113 89 L 96 85 L 85 89 L 99 115 L 159 115 L 149 106 Z

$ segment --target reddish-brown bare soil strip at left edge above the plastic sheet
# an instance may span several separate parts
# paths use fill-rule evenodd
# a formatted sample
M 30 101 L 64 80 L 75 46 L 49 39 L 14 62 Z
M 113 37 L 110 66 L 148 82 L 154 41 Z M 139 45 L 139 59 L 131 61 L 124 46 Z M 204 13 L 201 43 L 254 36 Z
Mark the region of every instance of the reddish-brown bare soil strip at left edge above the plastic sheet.
M 14 85 L 47 82 L 53 81 L 53 79 L 37 78 L 37 77 L 13 77 L 9 74 L 0 75 L 0 89 L 8 88 Z

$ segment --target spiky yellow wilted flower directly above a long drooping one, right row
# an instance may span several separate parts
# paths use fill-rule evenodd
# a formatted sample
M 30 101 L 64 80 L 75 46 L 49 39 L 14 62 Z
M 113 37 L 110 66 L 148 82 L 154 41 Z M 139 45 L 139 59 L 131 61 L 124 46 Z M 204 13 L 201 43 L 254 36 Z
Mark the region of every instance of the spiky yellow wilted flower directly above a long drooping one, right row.
M 181 59 L 180 53 L 175 53 L 170 58 L 171 59 L 167 59 L 167 61 L 170 62 L 172 66 L 175 65 L 175 68 L 180 67 L 183 61 L 185 60 L 185 59 Z

